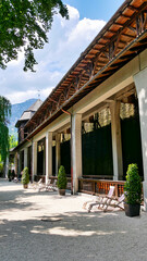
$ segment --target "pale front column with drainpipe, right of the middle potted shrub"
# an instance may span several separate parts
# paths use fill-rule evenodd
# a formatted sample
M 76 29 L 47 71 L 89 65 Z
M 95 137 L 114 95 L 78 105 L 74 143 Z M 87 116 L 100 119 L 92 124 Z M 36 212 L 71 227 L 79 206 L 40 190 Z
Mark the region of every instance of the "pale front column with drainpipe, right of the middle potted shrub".
M 72 163 L 75 194 L 78 191 L 78 177 L 82 177 L 82 114 L 72 115 Z

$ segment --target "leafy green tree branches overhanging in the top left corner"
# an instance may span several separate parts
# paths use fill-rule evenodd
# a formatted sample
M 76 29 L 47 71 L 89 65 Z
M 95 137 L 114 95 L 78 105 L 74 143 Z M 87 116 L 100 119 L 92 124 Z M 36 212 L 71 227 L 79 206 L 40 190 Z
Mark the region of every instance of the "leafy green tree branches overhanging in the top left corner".
M 53 15 L 59 11 L 69 18 L 66 5 L 61 0 L 4 0 L 0 1 L 0 67 L 25 55 L 24 71 L 34 71 L 37 64 L 34 49 L 42 49 L 48 42 Z

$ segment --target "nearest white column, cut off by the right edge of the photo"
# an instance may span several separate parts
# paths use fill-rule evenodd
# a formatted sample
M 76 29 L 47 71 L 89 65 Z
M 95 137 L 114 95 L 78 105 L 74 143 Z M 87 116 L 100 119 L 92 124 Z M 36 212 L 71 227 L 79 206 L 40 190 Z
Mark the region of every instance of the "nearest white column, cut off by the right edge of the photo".
M 139 108 L 140 136 L 144 167 L 144 207 L 147 211 L 147 67 L 134 75 Z

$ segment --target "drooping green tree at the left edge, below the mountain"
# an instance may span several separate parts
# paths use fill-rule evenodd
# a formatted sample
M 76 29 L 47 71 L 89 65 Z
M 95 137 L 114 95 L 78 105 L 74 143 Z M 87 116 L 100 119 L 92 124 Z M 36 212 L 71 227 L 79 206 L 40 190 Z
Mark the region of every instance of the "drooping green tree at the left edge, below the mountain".
M 0 159 L 5 162 L 9 153 L 9 116 L 11 115 L 11 103 L 0 96 Z

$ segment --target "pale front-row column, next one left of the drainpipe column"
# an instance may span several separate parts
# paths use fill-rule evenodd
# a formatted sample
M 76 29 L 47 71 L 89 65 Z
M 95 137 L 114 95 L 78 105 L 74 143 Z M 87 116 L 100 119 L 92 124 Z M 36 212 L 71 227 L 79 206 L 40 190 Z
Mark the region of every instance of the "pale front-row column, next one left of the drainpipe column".
M 52 133 L 46 134 L 46 183 L 52 176 Z

